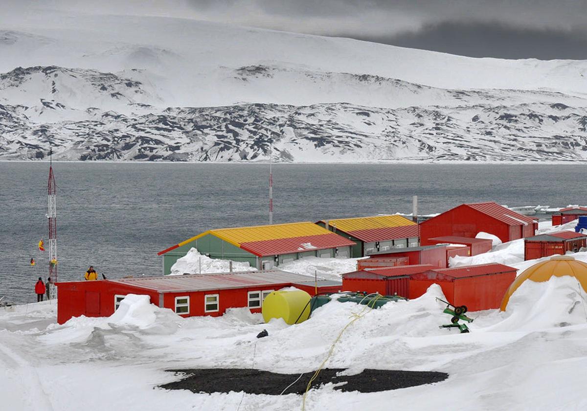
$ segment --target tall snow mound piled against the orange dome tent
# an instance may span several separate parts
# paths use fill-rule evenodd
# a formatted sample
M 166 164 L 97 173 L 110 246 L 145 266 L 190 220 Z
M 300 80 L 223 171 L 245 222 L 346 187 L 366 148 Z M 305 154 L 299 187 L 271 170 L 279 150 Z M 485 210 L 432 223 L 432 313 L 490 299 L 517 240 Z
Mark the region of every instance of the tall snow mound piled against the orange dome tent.
M 524 281 L 507 306 L 504 321 L 484 331 L 538 331 L 587 323 L 585 291 L 575 277 Z

